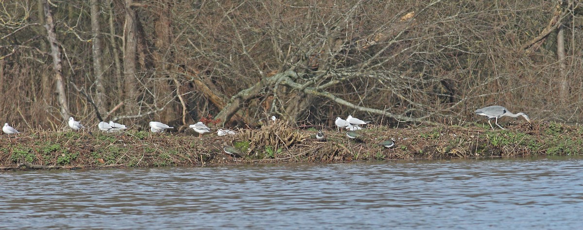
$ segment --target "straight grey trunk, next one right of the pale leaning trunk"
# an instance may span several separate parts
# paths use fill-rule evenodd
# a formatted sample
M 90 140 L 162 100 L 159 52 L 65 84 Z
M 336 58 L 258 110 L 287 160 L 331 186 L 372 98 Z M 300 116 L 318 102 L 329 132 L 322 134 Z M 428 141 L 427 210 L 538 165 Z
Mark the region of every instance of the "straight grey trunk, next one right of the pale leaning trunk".
M 95 76 L 94 102 L 97 113 L 106 112 L 105 87 L 103 86 L 103 65 L 101 62 L 101 32 L 99 30 L 99 6 L 97 0 L 91 0 L 91 31 L 93 33 L 93 75 Z

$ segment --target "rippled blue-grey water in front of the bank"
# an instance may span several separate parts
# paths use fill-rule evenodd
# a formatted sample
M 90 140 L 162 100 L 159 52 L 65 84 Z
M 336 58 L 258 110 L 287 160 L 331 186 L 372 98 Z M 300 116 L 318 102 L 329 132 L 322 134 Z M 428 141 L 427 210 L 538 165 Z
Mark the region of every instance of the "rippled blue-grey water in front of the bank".
M 0 172 L 0 228 L 577 229 L 583 158 Z

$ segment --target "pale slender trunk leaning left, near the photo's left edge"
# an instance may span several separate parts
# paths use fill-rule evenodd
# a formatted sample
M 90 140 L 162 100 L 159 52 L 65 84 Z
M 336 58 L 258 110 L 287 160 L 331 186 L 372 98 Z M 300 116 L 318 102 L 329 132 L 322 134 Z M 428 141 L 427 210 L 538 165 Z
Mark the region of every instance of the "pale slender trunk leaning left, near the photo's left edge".
M 44 28 L 47 29 L 47 39 L 51 47 L 52 56 L 52 66 L 55 71 L 55 84 L 57 87 L 57 100 L 59 102 L 59 108 L 61 112 L 61 117 L 63 119 L 69 118 L 69 105 L 67 97 L 65 94 L 65 83 L 62 76 L 62 64 L 61 64 L 61 49 L 59 48 L 57 42 L 57 34 L 55 33 L 55 24 L 52 20 L 51 9 L 49 8 L 47 0 L 42 0 L 45 22 Z

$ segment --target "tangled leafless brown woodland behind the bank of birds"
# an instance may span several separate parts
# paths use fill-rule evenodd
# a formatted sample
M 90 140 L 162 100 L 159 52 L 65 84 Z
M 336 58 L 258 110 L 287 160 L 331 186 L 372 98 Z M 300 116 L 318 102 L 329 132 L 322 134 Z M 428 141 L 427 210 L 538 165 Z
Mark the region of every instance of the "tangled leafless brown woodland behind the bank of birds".
M 0 122 L 583 121 L 582 3 L 0 1 Z

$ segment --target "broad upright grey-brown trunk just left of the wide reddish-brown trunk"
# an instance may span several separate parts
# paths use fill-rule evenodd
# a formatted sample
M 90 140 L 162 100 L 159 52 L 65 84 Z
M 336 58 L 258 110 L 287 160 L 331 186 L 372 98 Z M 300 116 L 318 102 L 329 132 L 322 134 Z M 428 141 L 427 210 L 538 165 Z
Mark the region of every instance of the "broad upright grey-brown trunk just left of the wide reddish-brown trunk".
M 124 87 L 125 87 L 125 111 L 128 114 L 137 112 L 138 82 L 136 80 L 136 49 L 137 33 L 136 13 L 132 9 L 132 0 L 125 0 L 125 26 L 124 26 Z

